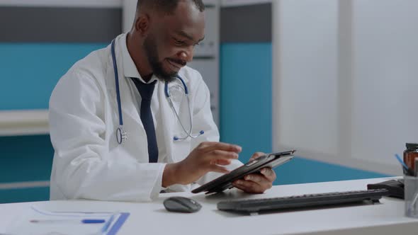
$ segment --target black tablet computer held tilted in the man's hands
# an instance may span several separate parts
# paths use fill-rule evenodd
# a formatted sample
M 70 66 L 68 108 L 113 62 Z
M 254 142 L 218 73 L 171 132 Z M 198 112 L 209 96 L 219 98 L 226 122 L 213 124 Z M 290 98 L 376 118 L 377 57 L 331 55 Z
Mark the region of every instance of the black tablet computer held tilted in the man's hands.
M 294 152 L 295 150 L 281 151 L 278 153 L 260 156 L 258 159 L 249 161 L 247 164 L 244 164 L 244 166 L 240 166 L 230 173 L 227 173 L 223 176 L 215 178 L 208 183 L 205 183 L 204 185 L 201 185 L 199 188 L 192 190 L 191 193 L 218 193 L 228 188 L 233 188 L 233 181 L 244 178 L 244 176 L 247 176 L 248 174 L 260 171 L 262 168 L 274 168 L 278 165 L 284 164 L 290 161 L 290 159 L 293 159 Z

